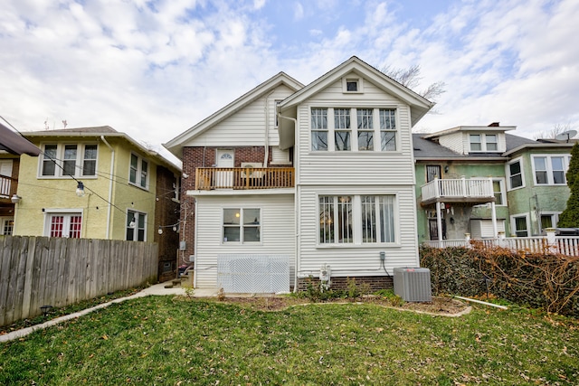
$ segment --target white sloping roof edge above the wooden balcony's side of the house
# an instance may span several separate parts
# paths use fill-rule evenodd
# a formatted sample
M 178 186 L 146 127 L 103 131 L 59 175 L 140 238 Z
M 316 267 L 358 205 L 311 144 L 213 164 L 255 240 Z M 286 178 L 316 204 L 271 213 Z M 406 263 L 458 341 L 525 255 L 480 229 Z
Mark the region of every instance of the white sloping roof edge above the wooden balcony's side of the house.
M 250 90 L 249 92 L 243 94 L 240 98 L 233 100 L 230 104 L 221 108 L 211 116 L 204 118 L 201 122 L 196 124 L 194 127 L 190 127 L 184 133 L 171 139 L 170 141 L 163 144 L 167 150 L 176 155 L 176 157 L 182 157 L 182 149 L 185 144 L 191 141 L 193 138 L 202 134 L 205 130 L 219 122 L 223 119 L 230 117 L 235 112 L 248 106 L 256 99 L 260 99 L 262 96 L 269 93 L 272 89 L 280 86 L 281 84 L 287 86 L 289 89 L 294 91 L 304 87 L 298 80 L 291 78 L 288 74 L 280 72 L 277 75 L 271 77 L 269 80 L 264 81 L 256 88 Z

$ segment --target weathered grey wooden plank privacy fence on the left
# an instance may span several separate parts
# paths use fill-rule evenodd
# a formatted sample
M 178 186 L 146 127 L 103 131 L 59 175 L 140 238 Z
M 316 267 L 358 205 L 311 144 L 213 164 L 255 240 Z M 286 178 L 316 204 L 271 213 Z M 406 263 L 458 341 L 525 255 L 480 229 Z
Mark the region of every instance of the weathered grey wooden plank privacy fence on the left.
M 0 236 L 0 325 L 157 281 L 157 244 Z

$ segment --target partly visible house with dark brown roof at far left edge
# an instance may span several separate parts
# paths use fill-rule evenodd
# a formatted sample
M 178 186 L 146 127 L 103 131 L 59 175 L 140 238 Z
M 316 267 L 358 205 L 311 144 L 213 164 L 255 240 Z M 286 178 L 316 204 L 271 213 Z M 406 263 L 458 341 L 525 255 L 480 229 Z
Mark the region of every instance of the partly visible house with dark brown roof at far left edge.
M 0 235 L 12 235 L 14 202 L 18 201 L 18 175 L 21 156 L 38 156 L 40 149 L 0 124 Z

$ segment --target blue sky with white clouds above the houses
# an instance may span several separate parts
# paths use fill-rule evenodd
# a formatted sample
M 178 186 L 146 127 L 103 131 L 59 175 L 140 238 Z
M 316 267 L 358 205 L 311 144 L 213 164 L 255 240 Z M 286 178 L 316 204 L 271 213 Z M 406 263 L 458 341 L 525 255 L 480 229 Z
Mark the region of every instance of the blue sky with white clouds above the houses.
M 415 127 L 579 128 L 576 0 L 8 0 L 0 116 L 19 131 L 108 125 L 156 150 L 280 71 L 356 55 L 444 82 Z

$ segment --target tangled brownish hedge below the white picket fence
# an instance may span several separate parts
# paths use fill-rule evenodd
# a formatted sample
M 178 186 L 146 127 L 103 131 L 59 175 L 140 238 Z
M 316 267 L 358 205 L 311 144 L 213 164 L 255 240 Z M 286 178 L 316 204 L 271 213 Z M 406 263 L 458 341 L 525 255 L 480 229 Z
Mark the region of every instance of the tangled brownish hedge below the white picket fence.
M 504 248 L 422 247 L 432 292 L 463 297 L 490 294 L 510 302 L 579 317 L 579 258 Z

